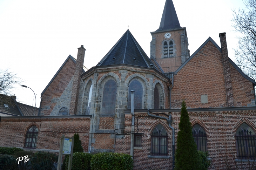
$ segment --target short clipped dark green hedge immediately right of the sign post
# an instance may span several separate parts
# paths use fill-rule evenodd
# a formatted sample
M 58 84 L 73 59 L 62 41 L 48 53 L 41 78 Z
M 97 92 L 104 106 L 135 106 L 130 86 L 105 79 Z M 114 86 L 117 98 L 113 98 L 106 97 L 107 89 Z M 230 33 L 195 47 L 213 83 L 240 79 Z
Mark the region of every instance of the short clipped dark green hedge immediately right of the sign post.
M 83 152 L 75 152 L 72 159 L 72 170 L 90 170 L 90 161 L 93 155 Z M 68 159 L 65 162 L 65 170 L 68 169 Z

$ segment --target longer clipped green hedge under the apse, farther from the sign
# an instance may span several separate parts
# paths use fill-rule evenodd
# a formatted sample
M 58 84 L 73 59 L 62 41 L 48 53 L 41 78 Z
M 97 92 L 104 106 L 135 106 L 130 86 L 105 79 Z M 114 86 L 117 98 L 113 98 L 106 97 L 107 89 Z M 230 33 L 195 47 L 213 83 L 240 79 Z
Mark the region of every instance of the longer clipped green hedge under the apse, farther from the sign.
M 119 153 L 99 153 L 93 155 L 91 159 L 92 170 L 132 170 L 132 156 Z

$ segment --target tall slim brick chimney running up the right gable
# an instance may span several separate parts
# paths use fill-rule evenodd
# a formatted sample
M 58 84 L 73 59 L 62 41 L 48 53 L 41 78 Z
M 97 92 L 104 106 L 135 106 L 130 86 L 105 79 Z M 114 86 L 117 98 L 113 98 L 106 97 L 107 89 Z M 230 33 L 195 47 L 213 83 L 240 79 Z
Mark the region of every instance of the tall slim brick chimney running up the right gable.
M 230 63 L 229 63 L 229 57 L 228 57 L 226 33 L 220 33 L 219 37 L 221 41 L 222 62 L 223 62 L 223 69 L 224 69 L 227 105 L 228 107 L 234 107 L 234 95 L 233 95 Z

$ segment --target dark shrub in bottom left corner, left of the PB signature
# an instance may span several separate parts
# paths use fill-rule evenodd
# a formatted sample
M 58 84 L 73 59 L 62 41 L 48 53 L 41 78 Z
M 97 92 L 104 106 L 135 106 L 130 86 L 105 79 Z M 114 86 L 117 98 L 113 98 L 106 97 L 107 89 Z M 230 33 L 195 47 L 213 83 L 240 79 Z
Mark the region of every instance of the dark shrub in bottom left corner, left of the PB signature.
M 12 155 L 0 155 L 0 169 L 13 170 L 16 159 Z

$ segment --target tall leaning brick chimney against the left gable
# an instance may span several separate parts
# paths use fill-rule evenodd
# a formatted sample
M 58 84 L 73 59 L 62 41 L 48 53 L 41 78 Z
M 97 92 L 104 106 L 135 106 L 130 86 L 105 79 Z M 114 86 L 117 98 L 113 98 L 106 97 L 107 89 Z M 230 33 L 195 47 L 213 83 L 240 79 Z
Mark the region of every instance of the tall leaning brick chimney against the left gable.
M 75 74 L 74 74 L 74 81 L 72 87 L 72 95 L 69 107 L 69 114 L 75 115 L 78 106 L 78 96 L 79 96 L 79 89 L 80 89 L 80 82 L 83 69 L 83 61 L 85 60 L 85 51 L 86 49 L 83 48 L 83 45 L 78 48 L 78 57 L 76 59 L 76 67 L 75 67 Z

